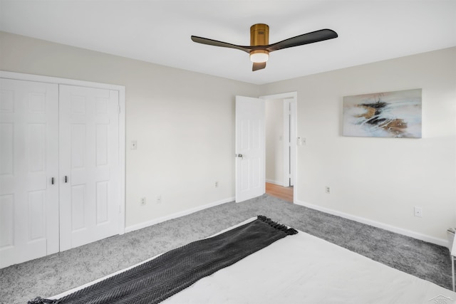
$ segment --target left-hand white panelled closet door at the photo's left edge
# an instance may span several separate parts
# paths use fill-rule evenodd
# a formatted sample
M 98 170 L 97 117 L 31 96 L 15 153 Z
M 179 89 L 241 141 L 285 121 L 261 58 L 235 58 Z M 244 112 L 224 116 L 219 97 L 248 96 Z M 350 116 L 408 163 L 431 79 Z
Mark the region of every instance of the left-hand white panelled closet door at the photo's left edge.
M 58 85 L 0 78 L 0 268 L 58 252 Z

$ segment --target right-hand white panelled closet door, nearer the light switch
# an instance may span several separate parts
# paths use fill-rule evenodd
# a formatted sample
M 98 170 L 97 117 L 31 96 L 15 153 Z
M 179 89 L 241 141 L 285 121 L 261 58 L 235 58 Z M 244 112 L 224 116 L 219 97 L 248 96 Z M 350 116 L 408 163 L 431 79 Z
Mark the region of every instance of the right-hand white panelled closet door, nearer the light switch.
M 61 251 L 119 234 L 119 96 L 60 85 Z

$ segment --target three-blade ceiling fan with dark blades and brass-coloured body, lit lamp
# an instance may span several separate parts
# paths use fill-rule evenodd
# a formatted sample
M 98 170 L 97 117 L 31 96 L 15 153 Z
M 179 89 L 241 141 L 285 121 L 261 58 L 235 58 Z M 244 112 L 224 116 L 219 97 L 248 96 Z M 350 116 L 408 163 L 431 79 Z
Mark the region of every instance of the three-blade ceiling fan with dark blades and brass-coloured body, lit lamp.
M 269 26 L 263 23 L 257 23 L 250 27 L 250 46 L 237 46 L 236 44 L 192 36 L 192 41 L 207 44 L 209 46 L 222 46 L 224 48 L 236 48 L 250 54 L 250 60 L 254 63 L 252 70 L 261 70 L 266 68 L 266 61 L 269 59 L 269 53 L 279 51 L 283 48 L 293 46 L 302 46 L 308 43 L 324 41 L 337 38 L 337 33 L 330 29 L 322 29 L 310 33 L 288 38 L 283 41 L 269 44 Z

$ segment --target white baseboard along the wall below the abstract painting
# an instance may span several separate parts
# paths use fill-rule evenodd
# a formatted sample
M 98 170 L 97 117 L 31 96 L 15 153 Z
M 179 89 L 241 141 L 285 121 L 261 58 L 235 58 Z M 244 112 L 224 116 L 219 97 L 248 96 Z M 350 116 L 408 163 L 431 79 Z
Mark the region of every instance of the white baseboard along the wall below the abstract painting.
M 396 226 L 391 226 L 391 225 L 388 225 L 388 224 L 380 223 L 379 221 L 373 221 L 371 219 L 366 219 L 366 218 L 363 218 L 361 216 L 355 216 L 353 214 L 346 214 L 344 212 L 333 210 L 333 209 L 328 209 L 328 208 L 325 208 L 325 207 L 322 207 L 322 206 L 316 206 L 314 204 L 308 204 L 308 203 L 306 203 L 304 201 L 298 201 L 296 199 L 295 199 L 294 203 L 298 204 L 298 205 L 301 205 L 301 206 L 309 207 L 311 209 L 322 211 L 322 212 L 325 212 L 327 214 L 332 214 L 332 215 L 335 215 L 335 216 L 341 216 L 341 217 L 343 217 L 345 219 L 351 219 L 353 221 L 358 221 L 358 222 L 360 222 L 362 224 L 367 224 L 367 225 L 374 226 L 374 227 L 377 227 L 377 228 L 380 228 L 380 229 L 385 229 L 385 230 L 388 230 L 388 231 L 392 231 L 392 232 L 395 232 L 396 234 L 403 234 L 404 236 L 410 236 L 413 239 L 418 239 L 420 241 L 425 241 L 425 242 L 428 242 L 428 243 L 435 243 L 437 245 L 445 246 L 445 247 L 448 246 L 448 241 L 446 239 L 437 239 L 437 238 L 435 238 L 433 236 L 427 236 L 425 234 L 419 234 L 418 232 L 415 232 L 415 231 L 410 231 L 410 230 L 402 229 L 402 228 L 399 228 L 399 227 L 396 227 Z

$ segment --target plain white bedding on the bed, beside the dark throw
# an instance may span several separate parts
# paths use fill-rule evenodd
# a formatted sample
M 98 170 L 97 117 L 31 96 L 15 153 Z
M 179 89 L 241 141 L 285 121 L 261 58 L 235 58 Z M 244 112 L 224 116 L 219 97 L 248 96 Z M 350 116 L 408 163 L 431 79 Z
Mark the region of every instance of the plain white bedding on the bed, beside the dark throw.
M 450 304 L 456 293 L 299 231 L 162 303 Z

